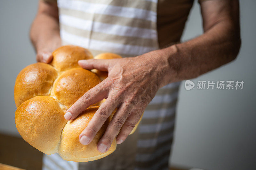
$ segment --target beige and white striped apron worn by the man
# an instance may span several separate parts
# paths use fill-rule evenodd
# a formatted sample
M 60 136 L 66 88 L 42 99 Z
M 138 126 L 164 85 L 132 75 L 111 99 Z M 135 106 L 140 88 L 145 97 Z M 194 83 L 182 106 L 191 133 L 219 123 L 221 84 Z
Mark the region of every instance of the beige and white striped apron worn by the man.
M 157 0 L 58 0 L 63 45 L 123 57 L 158 49 Z M 43 169 L 167 169 L 179 83 L 158 90 L 134 134 L 105 158 L 92 162 L 44 155 Z

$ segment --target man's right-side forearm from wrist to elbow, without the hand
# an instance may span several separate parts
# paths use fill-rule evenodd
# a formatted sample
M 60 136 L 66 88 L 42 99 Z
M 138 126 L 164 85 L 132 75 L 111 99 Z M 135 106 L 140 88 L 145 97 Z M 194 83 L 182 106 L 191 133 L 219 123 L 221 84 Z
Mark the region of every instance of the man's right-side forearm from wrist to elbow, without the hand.
M 220 22 L 203 35 L 157 51 L 168 83 L 196 78 L 236 58 L 240 48 L 239 28 Z

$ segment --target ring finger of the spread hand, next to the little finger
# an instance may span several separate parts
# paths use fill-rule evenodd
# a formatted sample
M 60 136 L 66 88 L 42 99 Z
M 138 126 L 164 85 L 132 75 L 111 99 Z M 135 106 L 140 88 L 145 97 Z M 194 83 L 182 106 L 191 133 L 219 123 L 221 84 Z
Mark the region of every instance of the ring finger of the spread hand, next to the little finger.
M 106 152 L 110 148 L 114 138 L 116 137 L 119 130 L 122 128 L 126 118 L 132 110 L 132 105 L 129 103 L 122 104 L 112 120 L 110 121 L 108 128 L 106 129 L 103 137 L 100 139 L 97 148 L 100 152 Z

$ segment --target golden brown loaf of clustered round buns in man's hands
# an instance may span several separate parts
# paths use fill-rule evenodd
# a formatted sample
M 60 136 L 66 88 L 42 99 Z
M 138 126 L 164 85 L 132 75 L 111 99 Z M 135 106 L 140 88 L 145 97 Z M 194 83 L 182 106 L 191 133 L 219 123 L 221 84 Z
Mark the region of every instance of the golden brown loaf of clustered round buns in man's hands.
M 92 54 L 77 46 L 63 46 L 52 54 L 51 65 L 31 64 L 21 70 L 16 78 L 14 99 L 18 108 L 15 124 L 20 135 L 39 151 L 46 154 L 59 152 L 63 159 L 69 161 L 86 162 L 109 155 L 116 149 L 116 139 L 105 153 L 97 150 L 97 143 L 110 118 L 90 144 L 83 145 L 78 140 L 79 134 L 105 99 L 90 106 L 72 121 L 64 118 L 66 110 L 76 100 L 100 83 L 95 73 L 77 64 L 78 60 L 93 58 Z

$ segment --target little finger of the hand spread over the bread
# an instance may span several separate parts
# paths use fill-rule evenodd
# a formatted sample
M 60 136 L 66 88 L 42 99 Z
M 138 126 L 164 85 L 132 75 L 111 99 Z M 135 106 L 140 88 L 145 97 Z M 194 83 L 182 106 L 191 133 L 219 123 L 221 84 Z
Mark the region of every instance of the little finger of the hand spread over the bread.
M 116 143 L 121 144 L 128 137 L 128 135 L 132 132 L 136 123 L 139 122 L 140 117 L 143 113 L 143 110 L 133 109 L 131 114 L 128 116 L 124 125 L 122 126 L 121 131 L 116 137 Z

